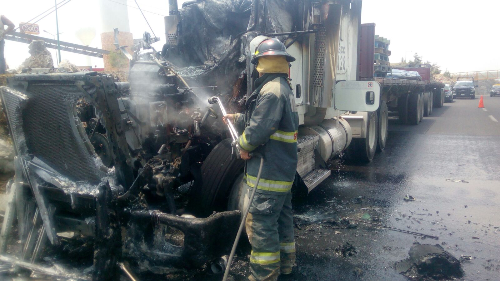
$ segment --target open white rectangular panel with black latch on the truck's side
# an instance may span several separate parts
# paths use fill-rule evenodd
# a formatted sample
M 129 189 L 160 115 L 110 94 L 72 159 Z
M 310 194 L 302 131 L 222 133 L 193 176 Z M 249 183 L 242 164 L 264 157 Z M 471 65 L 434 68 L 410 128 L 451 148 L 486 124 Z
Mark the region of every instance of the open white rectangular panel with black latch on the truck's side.
M 375 111 L 380 104 L 380 84 L 376 81 L 338 81 L 334 106 L 342 111 Z

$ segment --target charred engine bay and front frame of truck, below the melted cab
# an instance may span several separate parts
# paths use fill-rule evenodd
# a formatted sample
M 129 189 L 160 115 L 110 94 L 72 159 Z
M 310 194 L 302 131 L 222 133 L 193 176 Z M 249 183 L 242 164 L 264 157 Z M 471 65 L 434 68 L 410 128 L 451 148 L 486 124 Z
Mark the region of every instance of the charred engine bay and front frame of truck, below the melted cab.
M 215 118 L 160 68 L 136 62 L 130 81 L 149 82 L 135 89 L 112 75 L 60 69 L 32 69 L 1 87 L 16 152 L 2 253 L 17 239 L 14 217 L 22 259 L 89 247 L 99 274 L 115 274 L 109 259 L 198 267 L 230 249 L 239 211 L 196 218 L 183 204 L 196 177 L 189 170 L 220 138 L 194 124 Z

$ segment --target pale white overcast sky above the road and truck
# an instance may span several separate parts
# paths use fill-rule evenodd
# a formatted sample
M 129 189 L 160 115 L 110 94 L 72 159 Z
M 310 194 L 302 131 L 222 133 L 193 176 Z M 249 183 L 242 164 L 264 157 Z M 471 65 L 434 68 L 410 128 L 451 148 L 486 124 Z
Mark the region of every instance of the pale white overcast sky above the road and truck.
M 62 1 L 62 0 L 58 0 Z M 99 34 L 101 16 L 113 16 L 111 12 L 101 14 L 99 1 L 115 5 L 118 11 L 128 9 L 130 31 L 134 38 L 142 37 L 144 31 L 151 32 L 134 0 L 71 0 L 58 9 L 60 40 L 81 44 L 75 31 L 94 28 L 95 38 L 90 46 L 100 47 Z M 126 3 L 125 6 L 121 3 Z M 179 0 L 179 7 L 183 0 Z M 161 41 L 154 44 L 157 49 L 164 42 L 163 15 L 168 14 L 168 0 L 137 0 L 144 10 L 149 24 Z M 53 0 L 2 1 L 0 14 L 16 25 L 27 21 L 41 11 L 53 6 Z M 401 57 L 409 60 L 414 52 L 446 68 L 450 72 L 500 69 L 500 37 L 494 26 L 498 25 L 498 0 L 363 0 L 362 23 L 375 22 L 375 33 L 390 39 L 391 62 Z M 119 13 L 119 12 L 118 12 Z M 119 16 L 116 16 L 120 20 Z M 41 30 L 55 34 L 55 13 L 39 22 Z M 39 36 L 52 36 L 41 31 Z M 10 67 L 16 67 L 29 54 L 27 44 L 6 40 L 5 56 Z M 55 51 L 49 49 L 55 60 Z M 77 65 L 102 65 L 102 59 L 61 51 Z

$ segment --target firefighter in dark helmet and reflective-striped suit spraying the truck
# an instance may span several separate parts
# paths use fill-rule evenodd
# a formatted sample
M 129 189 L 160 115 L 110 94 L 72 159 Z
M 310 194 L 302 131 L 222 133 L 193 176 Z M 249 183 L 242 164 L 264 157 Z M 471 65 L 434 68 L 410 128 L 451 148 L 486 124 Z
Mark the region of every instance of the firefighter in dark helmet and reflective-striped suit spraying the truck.
M 245 114 L 223 118 L 243 131 L 238 145 L 246 160 L 247 196 L 257 188 L 245 221 L 252 248 L 250 280 L 275 280 L 279 274 L 291 273 L 295 262 L 290 189 L 297 167 L 298 114 L 288 79 L 288 63 L 294 60 L 277 38 L 261 41 L 251 60 L 260 76 L 246 100 Z M 263 156 L 264 165 L 255 186 L 257 155 Z

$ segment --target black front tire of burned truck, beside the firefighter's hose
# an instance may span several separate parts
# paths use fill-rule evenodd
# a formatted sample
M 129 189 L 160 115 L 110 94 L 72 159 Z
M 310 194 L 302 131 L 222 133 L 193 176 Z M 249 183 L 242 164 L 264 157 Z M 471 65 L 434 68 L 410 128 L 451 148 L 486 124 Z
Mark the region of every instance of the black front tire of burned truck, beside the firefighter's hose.
M 194 185 L 189 198 L 189 209 L 198 215 L 227 208 L 230 187 L 244 167 L 242 159 L 231 159 L 231 141 L 220 141 L 201 165 L 201 182 Z

